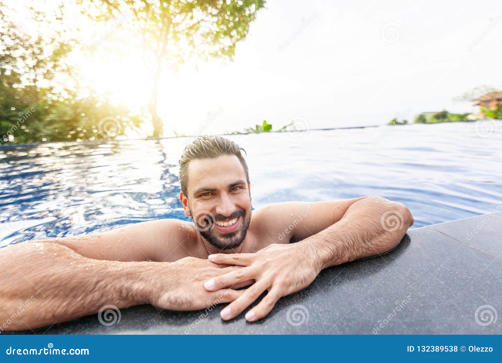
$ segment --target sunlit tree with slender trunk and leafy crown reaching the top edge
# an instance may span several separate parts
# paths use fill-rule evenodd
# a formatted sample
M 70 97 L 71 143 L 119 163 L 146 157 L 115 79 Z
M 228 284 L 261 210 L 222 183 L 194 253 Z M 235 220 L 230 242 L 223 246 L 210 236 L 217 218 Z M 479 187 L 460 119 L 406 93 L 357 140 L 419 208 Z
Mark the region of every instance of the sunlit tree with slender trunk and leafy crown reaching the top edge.
M 122 29 L 141 39 L 153 82 L 148 108 L 154 136 L 161 137 L 163 122 L 157 103 L 163 71 L 176 71 L 190 57 L 231 59 L 236 43 L 246 37 L 265 0 L 79 0 L 79 4 L 95 21 L 126 17 Z

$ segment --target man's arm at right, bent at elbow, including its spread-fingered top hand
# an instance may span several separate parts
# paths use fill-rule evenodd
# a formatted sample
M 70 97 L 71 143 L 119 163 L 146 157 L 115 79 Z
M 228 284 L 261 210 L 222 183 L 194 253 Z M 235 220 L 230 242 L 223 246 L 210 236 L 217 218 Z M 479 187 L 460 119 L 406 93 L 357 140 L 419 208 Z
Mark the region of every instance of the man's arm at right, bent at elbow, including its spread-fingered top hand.
M 391 250 L 413 224 L 413 217 L 406 206 L 381 197 L 326 202 L 321 208 L 314 205 L 308 217 L 295 222 L 298 212 L 305 212 L 308 205 L 290 204 L 287 215 L 294 218 L 292 221 L 285 217 L 284 206 L 281 206 L 281 216 L 277 216 L 277 220 L 286 218 L 290 221 L 284 230 L 291 238 L 305 238 L 301 242 L 273 244 L 255 254 L 209 256 L 214 263 L 244 268 L 211 279 L 204 284 L 206 290 L 231 287 L 250 279 L 256 281 L 221 311 L 223 319 L 237 316 L 268 290 L 262 301 L 246 313 L 248 321 L 261 319 L 272 310 L 279 298 L 309 286 L 322 269 Z M 341 211 L 342 216 L 336 220 Z M 331 225 L 327 225 L 329 218 L 335 219 Z M 323 226 L 324 229 L 320 229 Z

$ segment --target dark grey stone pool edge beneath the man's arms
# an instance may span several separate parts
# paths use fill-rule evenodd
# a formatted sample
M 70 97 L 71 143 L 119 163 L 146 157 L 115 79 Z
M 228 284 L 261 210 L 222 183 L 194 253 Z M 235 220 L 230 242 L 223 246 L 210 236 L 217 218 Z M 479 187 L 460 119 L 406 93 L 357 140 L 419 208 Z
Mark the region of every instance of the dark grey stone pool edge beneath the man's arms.
M 323 270 L 263 320 L 229 322 L 222 306 L 173 312 L 141 305 L 37 334 L 501 334 L 502 213 L 410 230 L 391 252 Z M 491 314 L 491 315 L 490 315 Z

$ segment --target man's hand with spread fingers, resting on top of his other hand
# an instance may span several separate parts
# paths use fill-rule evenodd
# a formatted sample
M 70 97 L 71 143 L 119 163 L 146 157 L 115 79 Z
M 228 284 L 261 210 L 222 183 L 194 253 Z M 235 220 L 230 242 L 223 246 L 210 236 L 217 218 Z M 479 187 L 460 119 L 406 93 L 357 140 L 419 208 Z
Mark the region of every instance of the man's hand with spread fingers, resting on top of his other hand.
M 210 255 L 209 261 L 215 266 L 225 264 L 244 267 L 208 280 L 204 284 L 207 291 L 217 292 L 222 288 L 235 288 L 237 284 L 248 280 L 256 281 L 243 290 L 244 293 L 240 297 L 221 310 L 220 315 L 224 320 L 240 314 L 268 290 L 262 301 L 245 315 L 247 321 L 263 318 L 281 297 L 306 288 L 321 271 L 321 261 L 306 244 L 301 243 L 273 244 L 254 254 Z

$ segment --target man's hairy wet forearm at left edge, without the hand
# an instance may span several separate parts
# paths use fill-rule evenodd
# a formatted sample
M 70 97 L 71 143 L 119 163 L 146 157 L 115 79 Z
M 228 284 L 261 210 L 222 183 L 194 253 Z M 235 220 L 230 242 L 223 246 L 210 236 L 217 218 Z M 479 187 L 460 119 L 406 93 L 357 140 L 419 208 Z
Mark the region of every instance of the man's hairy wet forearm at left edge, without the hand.
M 54 243 L 9 246 L 0 252 L 0 329 L 51 325 L 108 304 L 147 303 L 143 282 L 152 264 L 89 259 Z

